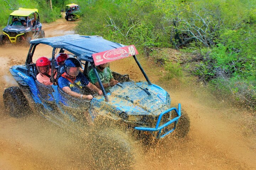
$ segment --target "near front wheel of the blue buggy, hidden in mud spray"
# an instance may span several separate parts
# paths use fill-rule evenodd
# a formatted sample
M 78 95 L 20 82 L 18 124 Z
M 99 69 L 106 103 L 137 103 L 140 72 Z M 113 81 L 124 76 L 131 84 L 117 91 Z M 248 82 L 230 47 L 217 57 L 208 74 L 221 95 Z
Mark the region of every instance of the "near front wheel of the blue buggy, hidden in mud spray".
M 95 169 L 132 169 L 134 147 L 129 137 L 119 129 L 95 129 L 90 135 Z

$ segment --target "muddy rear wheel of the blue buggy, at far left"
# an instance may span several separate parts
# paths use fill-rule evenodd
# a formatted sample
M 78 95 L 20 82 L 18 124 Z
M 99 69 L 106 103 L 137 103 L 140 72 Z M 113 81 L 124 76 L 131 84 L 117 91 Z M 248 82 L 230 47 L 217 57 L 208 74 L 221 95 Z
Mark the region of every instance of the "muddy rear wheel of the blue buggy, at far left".
M 4 106 L 11 117 L 22 117 L 30 112 L 28 101 L 19 87 L 9 87 L 4 91 Z

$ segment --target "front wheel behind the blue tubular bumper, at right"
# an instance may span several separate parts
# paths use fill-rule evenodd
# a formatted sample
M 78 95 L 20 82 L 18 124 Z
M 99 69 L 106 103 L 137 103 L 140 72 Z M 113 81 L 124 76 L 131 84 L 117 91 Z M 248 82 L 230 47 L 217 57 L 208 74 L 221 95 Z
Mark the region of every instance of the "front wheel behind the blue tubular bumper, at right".
M 175 136 L 178 138 L 185 137 L 190 130 L 190 118 L 188 114 L 181 110 L 181 117 L 178 120 L 178 124 L 175 129 Z

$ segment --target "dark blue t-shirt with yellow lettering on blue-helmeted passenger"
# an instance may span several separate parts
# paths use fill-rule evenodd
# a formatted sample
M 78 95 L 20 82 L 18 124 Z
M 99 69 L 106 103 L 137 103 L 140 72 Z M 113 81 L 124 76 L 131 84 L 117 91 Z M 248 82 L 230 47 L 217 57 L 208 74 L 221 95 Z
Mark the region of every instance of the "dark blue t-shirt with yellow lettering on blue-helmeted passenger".
M 76 79 L 74 83 L 71 83 L 68 79 L 64 77 L 60 77 L 58 79 L 59 87 L 62 89 L 63 87 L 68 86 L 71 91 L 82 93 L 82 87 L 85 87 L 89 84 L 89 81 L 86 79 L 84 74 L 79 73 L 78 76 L 76 76 Z

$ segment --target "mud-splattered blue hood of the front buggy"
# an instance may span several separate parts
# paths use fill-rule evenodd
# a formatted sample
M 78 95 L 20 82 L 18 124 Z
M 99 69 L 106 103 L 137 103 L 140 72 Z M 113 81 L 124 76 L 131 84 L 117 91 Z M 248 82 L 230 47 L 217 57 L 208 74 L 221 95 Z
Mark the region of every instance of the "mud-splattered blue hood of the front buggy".
M 112 107 L 134 115 L 159 115 L 170 107 L 169 94 L 146 82 L 118 83 L 108 94 Z

